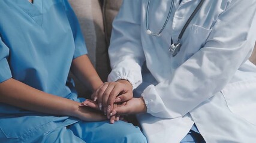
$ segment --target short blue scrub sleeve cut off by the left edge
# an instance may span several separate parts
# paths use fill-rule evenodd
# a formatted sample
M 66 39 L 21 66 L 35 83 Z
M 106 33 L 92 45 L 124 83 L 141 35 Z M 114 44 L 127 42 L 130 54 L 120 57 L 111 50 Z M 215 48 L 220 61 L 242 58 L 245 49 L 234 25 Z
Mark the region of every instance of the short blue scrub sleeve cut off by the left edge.
M 7 57 L 9 56 L 9 48 L 2 42 L 0 37 L 0 83 L 4 82 L 7 79 L 10 79 L 11 70 L 7 61 Z

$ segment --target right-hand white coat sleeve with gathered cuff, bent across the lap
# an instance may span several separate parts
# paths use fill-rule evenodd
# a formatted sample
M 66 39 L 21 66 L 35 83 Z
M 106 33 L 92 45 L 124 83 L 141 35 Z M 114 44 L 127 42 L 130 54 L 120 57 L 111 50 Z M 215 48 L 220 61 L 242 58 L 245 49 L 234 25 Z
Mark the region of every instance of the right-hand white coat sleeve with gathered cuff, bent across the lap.
M 207 42 L 174 71 L 141 95 L 147 113 L 181 117 L 221 91 L 252 52 L 256 39 L 256 1 L 233 0 L 219 15 Z

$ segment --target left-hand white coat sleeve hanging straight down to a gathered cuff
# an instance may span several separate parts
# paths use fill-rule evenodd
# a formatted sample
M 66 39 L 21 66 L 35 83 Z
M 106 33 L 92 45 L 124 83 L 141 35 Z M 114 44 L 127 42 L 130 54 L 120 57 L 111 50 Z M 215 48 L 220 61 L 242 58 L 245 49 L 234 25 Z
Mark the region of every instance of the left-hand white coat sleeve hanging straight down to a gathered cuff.
M 109 57 L 112 71 L 109 81 L 126 79 L 137 88 L 142 82 L 144 53 L 140 38 L 141 1 L 124 0 L 113 21 Z

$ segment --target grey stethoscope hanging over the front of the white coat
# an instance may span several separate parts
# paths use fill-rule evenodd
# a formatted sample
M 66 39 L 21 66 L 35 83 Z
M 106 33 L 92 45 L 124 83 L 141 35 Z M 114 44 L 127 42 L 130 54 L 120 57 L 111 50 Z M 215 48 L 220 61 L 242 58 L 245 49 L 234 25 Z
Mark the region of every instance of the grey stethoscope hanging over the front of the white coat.
M 168 15 L 167 15 L 167 18 L 164 22 L 164 25 L 162 26 L 162 28 L 159 30 L 159 32 L 157 33 L 154 33 L 152 32 L 151 30 L 149 30 L 149 24 L 148 24 L 148 15 L 149 15 L 149 5 L 150 5 L 150 1 L 149 0 L 147 2 L 147 11 L 146 11 L 146 33 L 148 35 L 152 35 L 152 36 L 160 36 L 161 33 L 162 33 L 162 30 L 164 30 L 166 24 L 167 24 L 167 21 L 169 20 L 170 18 L 170 15 L 171 15 L 171 10 L 173 9 L 173 4 L 174 4 L 174 0 L 171 1 L 171 7 L 170 7 L 170 10 L 168 12 Z M 179 34 L 179 37 L 178 37 L 178 40 L 176 43 L 173 43 L 173 39 L 171 38 L 171 46 L 169 48 L 169 51 L 171 52 L 171 55 L 174 57 L 175 55 L 177 55 L 177 53 L 180 51 L 180 47 L 181 47 L 181 43 L 180 43 L 180 39 L 182 38 L 183 36 L 183 33 L 185 32 L 186 30 L 186 27 L 188 27 L 188 24 L 191 22 L 192 18 L 194 18 L 195 14 L 197 13 L 197 11 L 201 8 L 201 6 L 203 5 L 203 2 L 204 0 L 201 0 L 200 3 L 197 5 L 197 7 L 195 8 L 195 10 L 193 11 L 193 13 L 190 15 L 190 17 L 188 18 L 188 20 L 186 21 L 185 25 L 183 26 L 180 34 Z

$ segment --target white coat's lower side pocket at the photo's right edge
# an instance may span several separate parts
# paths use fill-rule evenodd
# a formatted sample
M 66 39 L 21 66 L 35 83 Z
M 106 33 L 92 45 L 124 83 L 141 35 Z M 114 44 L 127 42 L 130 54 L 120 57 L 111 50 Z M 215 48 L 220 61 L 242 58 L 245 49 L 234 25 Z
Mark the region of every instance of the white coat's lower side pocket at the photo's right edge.
M 231 112 L 256 125 L 256 81 L 243 81 L 228 84 L 222 89 L 225 101 Z

